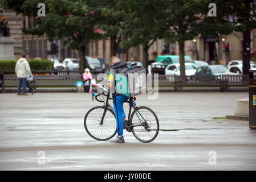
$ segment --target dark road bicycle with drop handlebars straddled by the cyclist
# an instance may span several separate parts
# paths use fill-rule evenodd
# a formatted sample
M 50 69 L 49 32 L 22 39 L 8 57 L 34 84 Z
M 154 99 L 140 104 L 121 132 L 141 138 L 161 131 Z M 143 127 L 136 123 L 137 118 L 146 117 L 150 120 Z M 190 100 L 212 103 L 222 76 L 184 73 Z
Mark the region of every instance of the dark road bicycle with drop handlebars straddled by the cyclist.
M 105 141 L 114 137 L 117 133 L 116 115 L 113 107 L 108 103 L 113 100 L 108 89 L 103 86 L 97 88 L 104 92 L 95 94 L 92 92 L 92 100 L 104 102 L 103 106 L 96 106 L 90 109 L 84 117 L 84 128 L 90 137 Z M 106 99 L 104 98 L 107 97 Z M 140 142 L 149 143 L 156 139 L 159 133 L 159 120 L 153 110 L 145 106 L 136 106 L 136 97 L 130 97 L 129 114 L 127 123 L 124 122 L 124 129 L 132 132 L 136 139 Z M 133 112 L 131 113 L 133 108 Z

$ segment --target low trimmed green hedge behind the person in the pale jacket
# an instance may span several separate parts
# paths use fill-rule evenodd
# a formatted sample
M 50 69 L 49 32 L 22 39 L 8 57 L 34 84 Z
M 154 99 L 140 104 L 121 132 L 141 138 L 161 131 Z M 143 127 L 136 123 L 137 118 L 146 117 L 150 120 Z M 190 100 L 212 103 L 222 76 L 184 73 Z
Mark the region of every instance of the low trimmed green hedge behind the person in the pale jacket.
M 18 60 L 0 60 L 0 71 L 15 71 L 15 65 Z M 50 60 L 28 59 L 31 71 L 51 71 L 52 63 Z

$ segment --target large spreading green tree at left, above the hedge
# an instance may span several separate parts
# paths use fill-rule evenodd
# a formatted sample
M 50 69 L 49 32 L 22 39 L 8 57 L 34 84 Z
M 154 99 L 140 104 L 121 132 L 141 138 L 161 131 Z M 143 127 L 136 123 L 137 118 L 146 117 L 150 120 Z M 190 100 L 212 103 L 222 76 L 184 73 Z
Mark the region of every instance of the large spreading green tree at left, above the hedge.
M 38 3 L 45 3 L 46 16 L 37 16 Z M 96 24 L 100 21 L 97 1 L 90 0 L 2 0 L 6 9 L 16 11 L 17 14 L 34 16 L 34 28 L 25 28 L 25 34 L 42 36 L 46 34 L 49 40 L 70 39 L 70 48 L 77 49 L 80 57 L 80 71 L 89 65 L 85 59 L 87 44 L 91 40 L 102 39 Z

